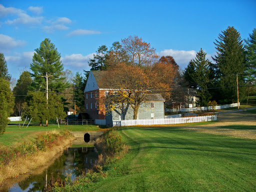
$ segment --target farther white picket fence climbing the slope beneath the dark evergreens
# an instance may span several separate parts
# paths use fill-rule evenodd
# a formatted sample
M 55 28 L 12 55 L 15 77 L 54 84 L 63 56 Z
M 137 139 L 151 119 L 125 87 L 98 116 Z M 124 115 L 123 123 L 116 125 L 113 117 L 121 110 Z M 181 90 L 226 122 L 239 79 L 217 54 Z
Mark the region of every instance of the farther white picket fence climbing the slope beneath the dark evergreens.
M 240 103 L 239 103 L 240 106 Z M 232 103 L 229 105 L 216 105 L 214 109 L 226 109 L 230 107 L 237 107 L 237 103 Z M 176 111 L 183 111 L 183 112 L 191 112 L 191 111 L 207 111 L 212 110 L 212 107 L 193 107 L 193 108 L 179 108 L 179 109 L 165 109 L 165 112 L 176 112 Z

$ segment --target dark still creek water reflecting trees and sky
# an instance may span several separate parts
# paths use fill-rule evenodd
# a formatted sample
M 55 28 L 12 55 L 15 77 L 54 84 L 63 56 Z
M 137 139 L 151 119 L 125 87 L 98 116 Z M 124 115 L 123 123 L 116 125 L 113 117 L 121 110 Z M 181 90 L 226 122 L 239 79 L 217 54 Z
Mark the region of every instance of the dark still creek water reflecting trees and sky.
M 77 141 L 76 145 L 77 146 Z M 40 192 L 44 188 L 44 184 L 50 182 L 51 173 L 56 178 L 59 173 L 61 180 L 64 180 L 66 175 L 69 175 L 71 180 L 81 174 L 81 171 L 90 169 L 96 164 L 98 154 L 94 147 L 87 147 L 79 144 L 76 148 L 67 148 L 61 156 L 59 156 L 52 165 L 45 169 L 39 175 L 30 175 L 26 179 L 17 184 L 13 184 L 9 189 L 2 186 L 0 191 L 3 192 Z M 77 169 L 78 168 L 78 169 Z M 5 188 L 5 189 L 4 189 Z

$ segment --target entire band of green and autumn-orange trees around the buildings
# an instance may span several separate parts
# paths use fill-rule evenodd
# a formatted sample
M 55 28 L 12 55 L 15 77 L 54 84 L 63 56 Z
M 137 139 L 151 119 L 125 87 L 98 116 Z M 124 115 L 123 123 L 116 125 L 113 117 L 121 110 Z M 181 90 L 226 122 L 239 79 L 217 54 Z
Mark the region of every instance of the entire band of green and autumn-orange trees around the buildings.
M 106 97 L 109 109 L 125 110 L 130 105 L 136 118 L 138 106 L 148 93 L 158 93 L 168 103 L 182 103 L 187 89 L 194 88 L 199 97 L 198 105 L 209 101 L 234 102 L 255 92 L 256 29 L 243 40 L 234 27 L 221 31 L 215 40 L 214 63 L 206 59 L 200 49 L 187 67 L 181 71 L 170 55 L 159 56 L 150 43 L 136 35 L 115 41 L 111 47 L 101 45 L 89 59 L 90 70 L 105 71 L 100 83 L 113 87 L 118 94 Z M 9 89 L 11 79 L 5 58 L 0 53 L 0 133 L 4 132 L 7 117 L 19 114 L 34 121 L 63 118 L 68 108 L 84 111 L 83 90 L 88 71 L 72 74 L 63 70 L 55 45 L 45 38 L 32 57 L 30 71 L 23 71 L 13 92 Z M 48 100 L 46 100 L 46 78 Z M 74 104 L 75 103 L 75 104 Z

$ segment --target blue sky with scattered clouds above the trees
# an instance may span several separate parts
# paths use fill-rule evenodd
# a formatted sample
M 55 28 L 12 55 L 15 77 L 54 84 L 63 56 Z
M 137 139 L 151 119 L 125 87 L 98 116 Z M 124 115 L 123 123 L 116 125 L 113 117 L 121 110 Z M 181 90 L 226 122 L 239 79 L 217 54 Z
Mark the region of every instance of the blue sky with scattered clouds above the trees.
M 137 35 L 181 69 L 228 26 L 247 39 L 256 28 L 256 0 L 0 0 L 0 52 L 16 80 L 49 38 L 65 69 L 89 70 L 101 45 Z

